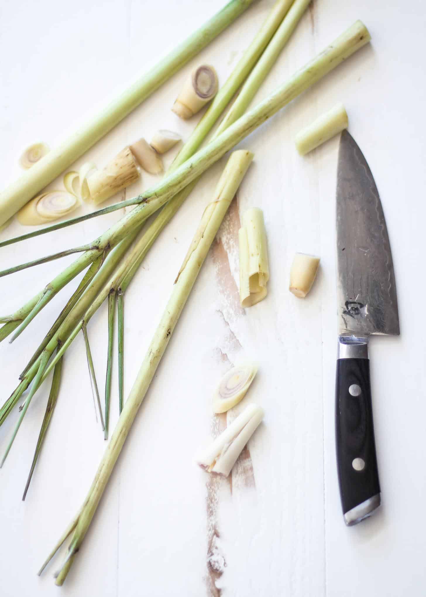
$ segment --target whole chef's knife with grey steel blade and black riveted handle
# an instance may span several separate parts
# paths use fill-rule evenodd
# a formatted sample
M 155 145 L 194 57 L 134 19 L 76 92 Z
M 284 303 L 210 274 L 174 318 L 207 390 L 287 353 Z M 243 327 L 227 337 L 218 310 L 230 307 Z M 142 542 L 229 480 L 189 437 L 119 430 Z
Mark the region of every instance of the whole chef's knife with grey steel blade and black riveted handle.
M 368 164 L 343 131 L 337 169 L 336 453 L 345 523 L 380 505 L 368 340 L 398 335 L 392 255 L 379 193 Z

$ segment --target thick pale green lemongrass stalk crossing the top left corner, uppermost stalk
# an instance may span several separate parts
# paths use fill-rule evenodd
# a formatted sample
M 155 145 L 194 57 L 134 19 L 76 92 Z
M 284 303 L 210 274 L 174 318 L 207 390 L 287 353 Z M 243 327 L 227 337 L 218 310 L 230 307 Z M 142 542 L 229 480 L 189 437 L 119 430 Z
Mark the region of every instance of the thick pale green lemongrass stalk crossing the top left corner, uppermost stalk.
M 102 112 L 91 119 L 78 132 L 52 149 L 39 162 L 27 170 L 16 182 L 0 195 L 0 224 L 13 216 L 39 190 L 51 183 L 59 174 L 78 159 L 89 147 L 115 127 L 141 101 L 169 79 L 188 60 L 196 56 L 221 31 L 229 26 L 252 0 L 231 0 L 212 19 L 189 36 L 183 43 L 163 58 L 159 64 L 141 76 L 112 101 Z

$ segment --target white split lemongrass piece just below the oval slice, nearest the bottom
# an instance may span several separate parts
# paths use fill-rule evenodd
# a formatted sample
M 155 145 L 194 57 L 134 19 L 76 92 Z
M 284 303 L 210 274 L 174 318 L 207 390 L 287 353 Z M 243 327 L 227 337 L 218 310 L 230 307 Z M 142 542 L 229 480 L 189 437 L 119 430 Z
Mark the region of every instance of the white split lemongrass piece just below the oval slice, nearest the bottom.
M 197 464 L 208 473 L 227 477 L 264 416 L 263 408 L 250 404 L 199 454 Z

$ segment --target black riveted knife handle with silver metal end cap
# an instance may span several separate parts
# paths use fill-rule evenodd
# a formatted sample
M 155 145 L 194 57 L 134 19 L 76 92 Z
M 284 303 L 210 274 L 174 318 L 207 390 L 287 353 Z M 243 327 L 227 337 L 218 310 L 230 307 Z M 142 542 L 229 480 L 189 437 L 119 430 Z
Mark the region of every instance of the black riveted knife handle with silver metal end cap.
M 350 526 L 380 505 L 368 358 L 337 361 L 336 453 L 342 510 Z

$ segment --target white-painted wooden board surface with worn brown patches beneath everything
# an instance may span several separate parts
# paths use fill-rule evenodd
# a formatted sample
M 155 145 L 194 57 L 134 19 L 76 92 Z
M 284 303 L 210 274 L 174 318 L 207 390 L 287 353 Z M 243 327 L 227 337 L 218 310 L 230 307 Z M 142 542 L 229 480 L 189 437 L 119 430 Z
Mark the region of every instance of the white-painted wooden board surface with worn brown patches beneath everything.
M 271 4 L 261 0 L 251 7 L 192 64 L 213 63 L 224 82 Z M 57 144 L 221 5 L 223 0 L 4 0 L 2 184 L 18 176 L 17 159 L 27 144 Z M 105 449 L 81 337 L 67 352 L 60 398 L 23 503 L 48 388 L 33 401 L 0 473 L 2 597 L 58 595 L 58 590 L 72 597 L 425 595 L 424 3 L 316 0 L 255 101 L 356 19 L 369 27 L 372 44 L 241 144 L 255 152 L 255 162 L 206 259 L 62 589 L 52 578 L 60 559 L 41 578 L 36 571 L 87 493 Z M 187 137 L 196 119 L 181 122 L 170 107 L 190 66 L 79 164 L 89 158 L 101 165 L 157 128 Z M 292 141 L 304 124 L 337 101 L 347 107 L 350 131 L 381 194 L 402 330 L 399 338 L 371 341 L 383 505 L 369 521 L 350 529 L 342 521 L 334 453 L 338 140 L 306 158 L 297 155 Z M 166 162 L 172 157 L 171 152 Z M 223 165 L 203 177 L 126 294 L 126 394 Z M 127 196 L 155 180 L 144 174 Z M 60 180 L 51 187 L 60 187 Z M 238 213 L 252 205 L 264 210 L 271 279 L 267 299 L 243 313 L 236 284 Z M 121 215 L 2 248 L 1 267 L 87 242 Z M 1 238 L 23 232 L 13 223 Z M 298 250 L 321 256 L 318 279 L 305 301 L 287 290 Z M 66 262 L 0 279 L 1 314 L 20 306 Z M 76 282 L 16 343 L 0 347 L 2 401 Z M 89 334 L 103 388 L 105 306 L 92 319 Z M 230 364 L 249 358 L 257 359 L 260 373 L 247 401 L 266 409 L 245 454 L 249 472 L 240 466 L 231 484 L 209 481 L 193 454 L 224 424 L 212 417 L 211 389 Z M 115 368 L 112 425 L 118 417 L 117 384 Z M 0 429 L 1 450 L 16 420 L 14 412 Z

